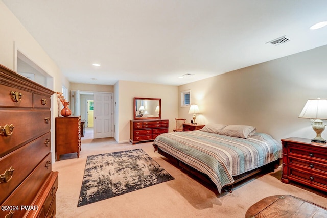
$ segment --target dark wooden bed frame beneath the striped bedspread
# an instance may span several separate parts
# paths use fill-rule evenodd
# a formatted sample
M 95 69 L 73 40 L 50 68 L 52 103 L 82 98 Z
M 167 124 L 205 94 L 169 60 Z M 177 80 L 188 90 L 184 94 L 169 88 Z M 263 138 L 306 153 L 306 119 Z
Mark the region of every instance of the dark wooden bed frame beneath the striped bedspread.
M 192 166 L 189 166 L 188 164 L 178 160 L 177 158 L 175 158 L 174 156 L 168 154 L 167 152 L 162 151 L 158 146 L 154 145 L 155 151 L 158 151 L 159 154 L 161 154 L 162 156 L 165 156 L 170 162 L 172 162 L 174 165 L 176 165 L 177 167 L 180 167 L 182 169 L 184 169 L 185 171 L 187 171 L 188 173 L 198 177 L 200 180 L 204 181 L 207 184 L 210 185 L 214 185 L 216 187 L 216 185 L 213 183 L 213 181 L 209 178 L 208 175 L 198 171 L 197 169 L 193 168 Z M 233 179 L 235 180 L 234 183 L 230 184 L 230 185 L 225 185 L 223 186 L 222 189 L 225 189 L 226 191 L 228 191 L 229 193 L 231 193 L 233 190 L 233 185 L 245 180 L 255 174 L 258 174 L 260 172 L 269 172 L 269 171 L 273 171 L 275 168 L 277 168 L 280 165 L 280 161 L 281 159 L 275 160 L 271 163 L 268 163 L 262 167 L 253 169 L 252 171 L 248 171 L 245 172 L 241 175 L 238 176 L 233 176 Z M 277 167 L 276 167 L 277 166 Z

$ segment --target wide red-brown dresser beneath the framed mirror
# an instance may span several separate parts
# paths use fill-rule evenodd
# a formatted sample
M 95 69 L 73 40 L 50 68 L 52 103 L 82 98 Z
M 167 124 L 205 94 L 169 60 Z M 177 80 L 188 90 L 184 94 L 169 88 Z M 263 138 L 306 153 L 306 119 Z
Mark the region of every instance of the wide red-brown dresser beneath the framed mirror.
M 130 142 L 153 141 L 158 135 L 168 132 L 168 119 L 131 120 Z

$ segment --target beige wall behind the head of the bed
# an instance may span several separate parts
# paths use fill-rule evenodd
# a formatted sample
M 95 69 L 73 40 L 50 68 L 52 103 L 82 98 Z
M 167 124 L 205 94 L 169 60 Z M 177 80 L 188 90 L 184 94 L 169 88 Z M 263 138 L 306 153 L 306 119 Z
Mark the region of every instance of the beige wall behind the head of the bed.
M 298 115 L 308 99 L 327 98 L 326 57 L 327 45 L 182 85 L 178 92 L 191 90 L 198 123 L 251 125 L 276 140 L 314 138 L 310 120 Z M 188 110 L 179 104 L 179 118 L 191 120 Z

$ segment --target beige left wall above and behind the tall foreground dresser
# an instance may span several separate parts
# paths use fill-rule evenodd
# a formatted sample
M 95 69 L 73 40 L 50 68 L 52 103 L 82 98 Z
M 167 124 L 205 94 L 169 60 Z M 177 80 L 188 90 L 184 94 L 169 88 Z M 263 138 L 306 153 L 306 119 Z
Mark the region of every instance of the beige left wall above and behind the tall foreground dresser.
M 15 70 L 18 50 L 54 78 L 51 84 L 54 91 L 61 92 L 62 85 L 69 89 L 69 82 L 61 74 L 58 66 L 2 1 L 0 1 L 0 27 L 0 64 Z M 52 138 L 55 138 L 54 117 L 58 115 L 56 95 L 52 97 L 52 105 Z M 52 154 L 54 161 L 54 140 L 52 140 Z

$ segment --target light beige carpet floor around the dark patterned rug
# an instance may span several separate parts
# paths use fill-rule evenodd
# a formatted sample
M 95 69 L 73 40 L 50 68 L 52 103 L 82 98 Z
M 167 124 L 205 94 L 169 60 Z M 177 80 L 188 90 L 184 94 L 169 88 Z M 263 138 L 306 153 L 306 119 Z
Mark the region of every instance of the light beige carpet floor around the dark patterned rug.
M 327 205 L 327 194 L 305 186 L 281 182 L 281 169 L 258 175 L 236 185 L 232 193 L 221 193 L 176 168 L 154 152 L 152 142 L 116 143 L 113 138 L 82 138 L 80 158 L 76 153 L 60 157 L 52 169 L 59 171 L 56 217 L 64 218 L 244 218 L 247 209 L 273 195 L 292 195 L 315 204 Z M 142 149 L 175 179 L 96 203 L 77 207 L 87 156 Z

